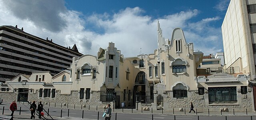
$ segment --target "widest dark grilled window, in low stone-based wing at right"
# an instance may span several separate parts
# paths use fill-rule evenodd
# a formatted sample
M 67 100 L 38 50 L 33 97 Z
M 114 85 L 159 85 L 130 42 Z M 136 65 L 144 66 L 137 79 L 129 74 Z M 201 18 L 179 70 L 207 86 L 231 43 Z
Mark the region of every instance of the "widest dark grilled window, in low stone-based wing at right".
M 208 88 L 209 103 L 234 103 L 237 102 L 236 87 Z

